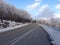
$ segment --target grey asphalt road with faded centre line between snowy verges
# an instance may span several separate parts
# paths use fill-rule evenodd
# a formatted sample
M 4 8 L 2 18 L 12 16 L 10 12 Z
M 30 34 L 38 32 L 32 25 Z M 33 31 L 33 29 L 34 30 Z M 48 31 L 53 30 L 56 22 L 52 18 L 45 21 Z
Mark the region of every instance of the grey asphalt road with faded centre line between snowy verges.
M 48 34 L 38 24 L 0 33 L 0 45 L 50 45 Z

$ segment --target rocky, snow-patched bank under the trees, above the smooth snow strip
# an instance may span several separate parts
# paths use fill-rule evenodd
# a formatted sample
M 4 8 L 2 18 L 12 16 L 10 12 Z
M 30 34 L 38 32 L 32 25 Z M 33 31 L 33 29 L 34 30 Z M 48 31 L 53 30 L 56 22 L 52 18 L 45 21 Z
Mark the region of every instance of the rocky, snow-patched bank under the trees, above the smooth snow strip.
M 8 28 L 8 27 L 15 27 L 17 25 L 22 25 L 23 23 L 18 23 L 15 21 L 11 21 L 11 20 L 3 20 L 3 23 L 0 20 L 0 29 L 1 28 Z

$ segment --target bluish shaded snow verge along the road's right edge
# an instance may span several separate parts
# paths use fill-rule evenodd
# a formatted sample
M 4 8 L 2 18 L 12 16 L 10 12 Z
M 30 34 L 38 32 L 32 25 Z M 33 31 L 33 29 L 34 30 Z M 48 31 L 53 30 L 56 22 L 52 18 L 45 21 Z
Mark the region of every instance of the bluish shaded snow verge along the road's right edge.
M 51 41 L 51 43 L 53 43 L 53 45 L 60 45 L 60 31 L 55 30 L 54 28 L 51 28 L 47 25 L 41 25 L 41 26 L 48 32 L 50 38 L 53 40 Z

